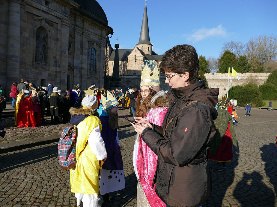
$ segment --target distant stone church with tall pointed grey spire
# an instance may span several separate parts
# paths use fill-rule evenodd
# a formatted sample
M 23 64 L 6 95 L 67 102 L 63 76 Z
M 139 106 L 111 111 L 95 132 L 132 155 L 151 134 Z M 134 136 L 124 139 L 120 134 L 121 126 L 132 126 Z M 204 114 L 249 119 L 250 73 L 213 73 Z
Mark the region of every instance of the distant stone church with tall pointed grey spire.
M 147 59 L 155 60 L 158 65 L 161 62 L 162 55 L 156 54 L 152 50 L 152 47 L 153 45 L 150 42 L 149 36 L 147 7 L 145 3 L 139 42 L 131 49 L 117 49 L 119 68 L 116 68 L 116 50 L 112 48 L 109 40 L 107 41 L 108 60 L 106 63 L 106 88 L 138 88 L 141 77 L 141 65 L 143 62 Z M 114 76 L 114 73 L 117 73 L 116 70 L 119 70 L 119 77 Z M 111 84 L 112 81 L 110 80 L 112 79 L 118 79 L 118 83 Z

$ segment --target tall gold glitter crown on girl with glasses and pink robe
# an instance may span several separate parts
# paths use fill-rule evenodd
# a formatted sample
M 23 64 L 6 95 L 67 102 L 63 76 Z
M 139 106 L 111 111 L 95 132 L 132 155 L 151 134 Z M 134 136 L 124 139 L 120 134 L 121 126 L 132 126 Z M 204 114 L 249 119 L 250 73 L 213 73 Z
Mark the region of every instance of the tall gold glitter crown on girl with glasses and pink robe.
M 151 60 L 150 62 L 147 60 L 147 63 L 145 66 L 142 65 L 140 85 L 152 85 L 160 87 L 160 70 L 158 69 L 156 61 Z

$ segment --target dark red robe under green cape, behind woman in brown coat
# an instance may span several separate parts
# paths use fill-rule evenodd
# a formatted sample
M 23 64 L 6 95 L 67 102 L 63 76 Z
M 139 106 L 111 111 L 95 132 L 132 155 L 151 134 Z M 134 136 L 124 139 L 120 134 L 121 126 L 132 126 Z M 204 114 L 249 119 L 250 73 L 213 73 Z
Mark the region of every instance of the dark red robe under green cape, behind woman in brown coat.
M 228 108 L 228 112 L 232 114 L 233 107 Z M 231 122 L 231 124 L 233 124 Z M 213 156 L 209 152 L 209 158 L 219 162 L 231 162 L 233 158 L 233 148 L 232 148 L 232 134 L 230 131 L 230 122 L 228 123 L 228 128 L 225 131 L 224 137 L 219 145 L 216 155 Z

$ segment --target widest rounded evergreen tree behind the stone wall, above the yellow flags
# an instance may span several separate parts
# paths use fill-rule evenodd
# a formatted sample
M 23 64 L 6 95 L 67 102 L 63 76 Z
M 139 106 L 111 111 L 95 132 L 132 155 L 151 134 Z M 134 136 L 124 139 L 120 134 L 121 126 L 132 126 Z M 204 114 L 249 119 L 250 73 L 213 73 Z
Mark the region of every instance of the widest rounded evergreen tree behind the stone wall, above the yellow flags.
M 230 65 L 230 70 L 236 68 L 237 59 L 234 53 L 231 53 L 229 50 L 226 50 L 221 58 L 219 59 L 219 73 L 228 73 L 228 65 Z

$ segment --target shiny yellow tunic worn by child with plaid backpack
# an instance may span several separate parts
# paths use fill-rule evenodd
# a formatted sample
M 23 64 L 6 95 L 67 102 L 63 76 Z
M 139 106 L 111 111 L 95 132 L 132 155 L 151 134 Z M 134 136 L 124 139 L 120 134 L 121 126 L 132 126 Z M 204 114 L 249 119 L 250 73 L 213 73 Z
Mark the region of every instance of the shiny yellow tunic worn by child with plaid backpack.
M 77 125 L 76 159 L 84 149 L 89 134 L 98 125 L 100 125 L 101 131 L 101 121 L 96 116 L 88 116 Z M 101 161 L 101 166 L 102 164 L 103 161 Z M 77 159 L 76 167 L 70 170 L 71 192 L 83 194 L 96 193 L 98 195 L 98 174 L 101 166 L 99 166 L 99 160 L 97 160 L 94 152 L 87 145 Z

